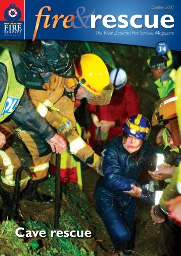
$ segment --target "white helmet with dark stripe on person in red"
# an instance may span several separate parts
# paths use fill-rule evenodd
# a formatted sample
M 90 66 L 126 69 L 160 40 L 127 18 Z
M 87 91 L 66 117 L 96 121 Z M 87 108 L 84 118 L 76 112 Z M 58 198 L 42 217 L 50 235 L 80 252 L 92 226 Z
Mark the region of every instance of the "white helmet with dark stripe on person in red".
M 127 82 L 126 72 L 122 68 L 115 68 L 110 73 L 110 82 L 116 90 L 121 89 Z

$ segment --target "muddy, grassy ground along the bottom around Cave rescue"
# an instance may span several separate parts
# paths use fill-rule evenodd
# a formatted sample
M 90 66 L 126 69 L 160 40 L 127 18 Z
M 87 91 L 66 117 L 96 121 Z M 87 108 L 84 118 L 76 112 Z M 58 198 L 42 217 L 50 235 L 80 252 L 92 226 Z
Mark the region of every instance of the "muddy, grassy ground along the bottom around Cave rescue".
M 113 245 L 105 226 L 96 212 L 93 191 L 99 175 L 92 169 L 82 171 L 83 192 L 75 184 L 63 188 L 59 230 L 90 230 L 91 238 L 61 239 L 50 237 L 54 230 L 54 204 L 21 202 L 27 218 L 20 227 L 26 230 L 46 230 L 45 238 L 20 239 L 15 235 L 18 228 L 14 222 L 0 225 L 0 255 L 115 255 Z M 55 180 L 49 179 L 39 187 L 40 192 L 54 195 Z M 88 197 L 88 198 L 87 198 Z M 157 255 L 158 225 L 150 220 L 150 207 L 140 205 L 137 214 L 137 235 L 135 250 L 139 255 Z

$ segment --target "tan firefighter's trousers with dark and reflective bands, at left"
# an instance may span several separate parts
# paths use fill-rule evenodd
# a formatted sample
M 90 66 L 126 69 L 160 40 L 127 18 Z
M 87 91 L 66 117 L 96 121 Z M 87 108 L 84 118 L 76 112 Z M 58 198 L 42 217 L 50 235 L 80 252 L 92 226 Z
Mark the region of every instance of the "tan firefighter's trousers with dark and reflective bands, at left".
M 31 177 L 22 172 L 20 190 L 28 180 L 40 181 L 47 177 L 51 148 L 37 135 L 17 127 L 13 120 L 0 123 L 0 131 L 6 136 L 6 145 L 0 150 L 1 186 L 8 192 L 14 191 L 16 171 L 27 166 Z

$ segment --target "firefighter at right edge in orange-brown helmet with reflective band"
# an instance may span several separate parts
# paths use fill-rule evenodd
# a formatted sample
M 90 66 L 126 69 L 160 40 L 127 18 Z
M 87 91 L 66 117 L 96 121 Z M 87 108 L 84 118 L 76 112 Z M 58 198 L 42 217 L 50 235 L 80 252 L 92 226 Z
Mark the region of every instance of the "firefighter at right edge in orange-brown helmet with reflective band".
M 170 256 L 178 255 L 180 252 L 179 237 L 181 235 L 181 228 L 175 222 L 171 220 L 168 221 L 168 206 L 165 204 L 166 201 L 179 195 L 176 182 L 179 172 L 178 165 L 181 159 L 181 139 L 175 108 L 176 101 L 177 97 L 174 95 L 174 90 L 172 90 L 167 97 L 162 99 L 161 103 L 159 102 L 160 105 L 157 104 L 158 109 L 156 110 L 158 122 L 162 123 L 164 127 L 166 127 L 172 137 L 173 145 L 179 150 L 170 184 L 163 190 L 159 205 L 153 205 L 151 209 L 152 219 L 157 223 L 162 223 L 158 248 L 159 256 L 166 254 Z

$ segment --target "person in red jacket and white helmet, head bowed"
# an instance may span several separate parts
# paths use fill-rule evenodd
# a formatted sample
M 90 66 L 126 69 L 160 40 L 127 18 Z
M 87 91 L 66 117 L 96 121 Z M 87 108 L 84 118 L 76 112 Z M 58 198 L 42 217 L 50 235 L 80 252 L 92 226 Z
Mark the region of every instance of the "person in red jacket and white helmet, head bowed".
M 100 140 L 100 136 L 95 135 L 99 126 L 101 141 L 105 140 L 106 133 L 108 140 L 112 140 L 116 135 L 122 135 L 125 120 L 139 113 L 140 101 L 133 87 L 127 83 L 126 72 L 122 68 L 113 69 L 110 73 L 110 81 L 115 88 L 111 102 L 104 106 L 88 104 L 88 112 L 93 120 L 93 124 L 88 129 L 91 133 L 90 144 L 93 148 Z

